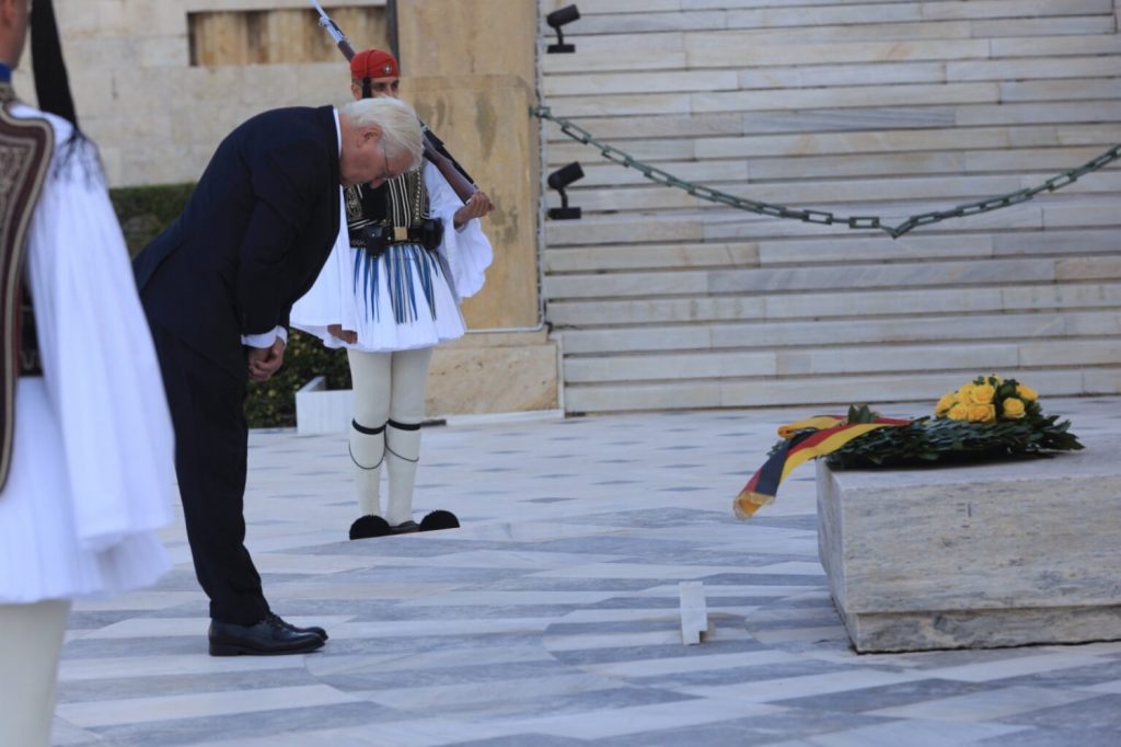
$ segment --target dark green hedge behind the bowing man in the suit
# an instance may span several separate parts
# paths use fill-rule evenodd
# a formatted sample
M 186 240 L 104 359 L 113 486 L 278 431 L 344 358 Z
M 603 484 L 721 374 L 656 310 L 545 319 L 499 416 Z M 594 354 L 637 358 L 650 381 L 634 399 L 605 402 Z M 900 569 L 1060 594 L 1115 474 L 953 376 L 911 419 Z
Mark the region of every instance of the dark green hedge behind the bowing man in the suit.
M 194 184 L 119 187 L 109 191 L 117 218 L 124 231 L 129 253 L 136 256 L 174 221 L 191 196 Z M 316 376 L 327 377 L 327 387 L 350 387 L 346 353 L 327 350 L 317 338 L 293 331 L 285 350 L 284 368 L 263 384 L 250 382 L 245 400 L 249 427 L 280 427 L 296 424 L 296 390 Z

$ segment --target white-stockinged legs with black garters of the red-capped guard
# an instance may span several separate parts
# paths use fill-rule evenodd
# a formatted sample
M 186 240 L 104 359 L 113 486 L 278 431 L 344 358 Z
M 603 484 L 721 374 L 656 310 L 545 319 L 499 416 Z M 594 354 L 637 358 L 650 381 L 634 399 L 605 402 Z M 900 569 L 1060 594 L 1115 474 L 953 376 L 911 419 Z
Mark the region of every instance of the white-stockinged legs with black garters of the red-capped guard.
M 350 432 L 359 510 L 362 516 L 383 516 L 396 526 L 413 518 L 413 487 L 420 459 L 420 431 L 415 426 L 424 419 L 432 348 L 348 350 L 346 356 L 354 387 L 354 421 L 360 426 L 352 425 Z M 382 463 L 389 476 L 385 514 L 380 497 Z

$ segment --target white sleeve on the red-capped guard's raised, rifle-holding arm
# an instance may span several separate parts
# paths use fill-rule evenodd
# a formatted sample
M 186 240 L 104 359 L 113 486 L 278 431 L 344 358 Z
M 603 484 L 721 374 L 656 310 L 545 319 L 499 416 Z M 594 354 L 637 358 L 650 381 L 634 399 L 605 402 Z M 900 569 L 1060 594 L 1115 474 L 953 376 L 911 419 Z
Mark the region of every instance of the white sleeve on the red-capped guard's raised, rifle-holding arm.
M 487 268 L 494 260 L 490 241 L 479 220 L 467 221 L 461 230 L 455 230 L 455 211 L 463 206 L 463 201 L 439 169 L 428 162 L 424 164 L 424 183 L 428 188 L 433 216 L 444 221 L 444 241 L 439 246 L 439 255 L 451 274 L 452 292 L 456 301 L 473 296 L 482 289 L 487 280 Z

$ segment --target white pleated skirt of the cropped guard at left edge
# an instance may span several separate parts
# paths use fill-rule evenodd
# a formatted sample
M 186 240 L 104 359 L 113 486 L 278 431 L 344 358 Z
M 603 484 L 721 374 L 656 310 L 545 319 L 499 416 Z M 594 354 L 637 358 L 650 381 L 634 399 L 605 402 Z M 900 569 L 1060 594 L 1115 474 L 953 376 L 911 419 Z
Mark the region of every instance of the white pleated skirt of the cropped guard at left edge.
M 114 596 L 170 566 L 155 532 L 80 547 L 58 419 L 41 378 L 16 387 L 11 471 L 0 492 L 0 603 Z

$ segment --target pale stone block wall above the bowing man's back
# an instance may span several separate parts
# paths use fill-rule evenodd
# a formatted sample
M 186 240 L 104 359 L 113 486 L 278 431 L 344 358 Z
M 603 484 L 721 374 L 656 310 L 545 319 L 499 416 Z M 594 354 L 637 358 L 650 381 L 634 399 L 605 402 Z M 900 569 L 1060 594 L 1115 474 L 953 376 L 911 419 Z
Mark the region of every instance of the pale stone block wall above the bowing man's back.
M 385 9 L 385 0 L 324 4 Z M 192 182 L 219 140 L 252 114 L 349 96 L 342 56 L 326 45 L 319 62 L 191 65 L 188 15 L 298 9 L 314 25 L 304 0 L 55 0 L 55 9 L 75 105 L 113 186 Z M 34 99 L 28 74 L 17 85 Z

